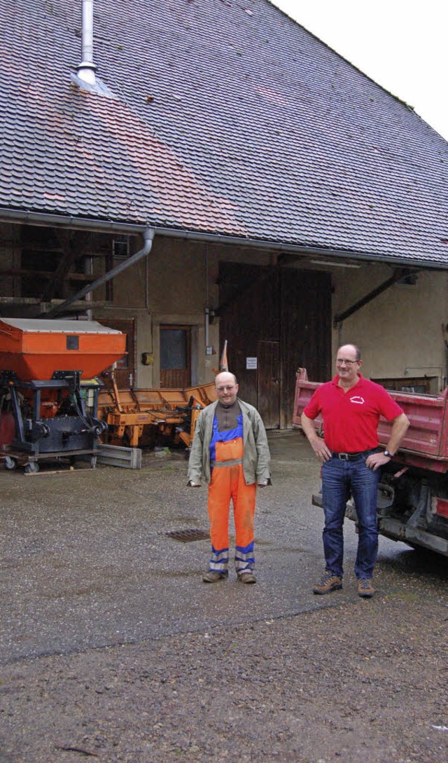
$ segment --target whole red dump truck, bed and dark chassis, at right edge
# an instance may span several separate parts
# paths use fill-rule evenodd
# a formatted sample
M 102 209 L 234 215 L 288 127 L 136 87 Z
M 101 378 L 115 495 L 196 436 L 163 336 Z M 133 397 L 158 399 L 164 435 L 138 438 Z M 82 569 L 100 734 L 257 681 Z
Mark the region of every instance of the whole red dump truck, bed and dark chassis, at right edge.
M 303 409 L 318 388 L 306 369 L 296 373 L 293 426 L 300 427 Z M 382 467 L 379 481 L 378 530 L 392 540 L 448 556 L 448 387 L 440 394 L 389 390 L 410 420 L 410 427 L 392 461 Z M 315 427 L 323 434 L 321 417 Z M 379 443 L 386 447 L 391 424 L 379 420 Z M 322 506 L 322 494 L 312 497 Z M 349 498 L 346 516 L 357 522 Z

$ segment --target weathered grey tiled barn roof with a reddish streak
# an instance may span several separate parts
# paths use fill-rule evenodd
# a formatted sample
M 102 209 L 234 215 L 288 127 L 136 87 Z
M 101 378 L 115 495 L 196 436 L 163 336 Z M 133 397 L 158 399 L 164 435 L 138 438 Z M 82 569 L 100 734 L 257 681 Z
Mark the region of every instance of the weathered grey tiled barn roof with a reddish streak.
M 268 0 L 0 0 L 0 208 L 448 266 L 448 143 Z

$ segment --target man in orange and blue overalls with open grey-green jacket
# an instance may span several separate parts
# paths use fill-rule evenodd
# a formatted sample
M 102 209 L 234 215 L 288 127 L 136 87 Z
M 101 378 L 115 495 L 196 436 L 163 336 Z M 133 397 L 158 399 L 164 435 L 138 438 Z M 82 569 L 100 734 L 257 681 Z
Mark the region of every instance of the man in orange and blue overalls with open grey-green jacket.
M 237 397 L 233 374 L 216 376 L 218 400 L 201 410 L 188 463 L 188 485 L 209 483 L 208 510 L 212 554 L 204 583 L 229 575 L 229 509 L 235 519 L 235 569 L 238 581 L 255 583 L 254 512 L 257 485 L 270 485 L 270 453 L 258 410 Z

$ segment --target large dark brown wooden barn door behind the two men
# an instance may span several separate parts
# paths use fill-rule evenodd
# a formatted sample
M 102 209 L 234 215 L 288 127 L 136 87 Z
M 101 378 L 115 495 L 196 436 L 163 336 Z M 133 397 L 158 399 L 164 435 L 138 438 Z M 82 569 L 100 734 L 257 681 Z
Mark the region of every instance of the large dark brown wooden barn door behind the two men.
M 219 340 L 243 400 L 267 429 L 290 427 L 296 369 L 331 374 L 331 277 L 325 272 L 219 263 Z

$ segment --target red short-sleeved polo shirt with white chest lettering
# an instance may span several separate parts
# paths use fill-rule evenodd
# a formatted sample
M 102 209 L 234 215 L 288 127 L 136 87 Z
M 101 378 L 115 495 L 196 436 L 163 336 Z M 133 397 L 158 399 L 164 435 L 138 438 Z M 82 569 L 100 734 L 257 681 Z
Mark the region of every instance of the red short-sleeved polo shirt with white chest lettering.
M 363 378 L 347 392 L 336 374 L 318 387 L 303 413 L 309 419 L 322 414 L 325 444 L 338 453 L 356 453 L 378 446 L 379 417 L 392 421 L 403 413 L 385 388 Z

